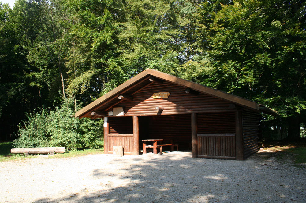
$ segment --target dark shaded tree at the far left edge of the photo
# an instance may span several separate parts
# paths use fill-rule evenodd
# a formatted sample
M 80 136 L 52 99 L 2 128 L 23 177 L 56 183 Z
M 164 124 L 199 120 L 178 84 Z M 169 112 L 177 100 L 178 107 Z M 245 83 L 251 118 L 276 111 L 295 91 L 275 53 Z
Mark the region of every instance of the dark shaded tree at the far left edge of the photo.
M 27 52 L 20 45 L 12 9 L 0 3 L 0 139 L 13 139 L 17 125 L 29 112 L 41 104 L 38 91 L 32 88 L 32 66 Z

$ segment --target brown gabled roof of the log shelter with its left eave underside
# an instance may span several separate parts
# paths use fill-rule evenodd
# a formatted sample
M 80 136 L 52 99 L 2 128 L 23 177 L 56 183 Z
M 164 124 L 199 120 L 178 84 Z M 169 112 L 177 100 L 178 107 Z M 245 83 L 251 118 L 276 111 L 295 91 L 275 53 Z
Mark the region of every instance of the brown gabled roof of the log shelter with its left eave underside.
M 207 87 L 189 80 L 184 80 L 179 77 L 175 77 L 173 75 L 163 73 L 154 69 L 146 69 L 143 72 L 139 73 L 138 75 L 132 77 L 125 83 L 119 85 L 118 87 L 114 88 L 112 91 L 106 93 L 102 97 L 98 98 L 94 102 L 91 102 L 87 106 L 85 106 L 80 111 L 76 112 L 75 117 L 92 117 L 91 112 L 97 109 L 106 111 L 110 109 L 110 107 L 119 103 L 120 100 L 118 99 L 119 95 L 121 94 L 131 94 L 137 92 L 137 89 L 141 87 L 145 87 L 150 85 L 150 81 L 148 80 L 149 77 L 155 77 L 161 80 L 165 80 L 177 85 L 181 85 L 183 87 L 189 87 L 192 90 L 198 91 L 200 93 L 204 93 L 210 95 L 215 98 L 219 98 L 228 102 L 232 102 L 236 105 L 242 106 L 244 108 L 254 110 L 257 112 L 266 112 L 270 114 L 278 114 L 278 112 L 270 109 L 264 105 L 260 105 L 254 101 L 229 94 L 217 89 L 213 89 L 211 87 Z

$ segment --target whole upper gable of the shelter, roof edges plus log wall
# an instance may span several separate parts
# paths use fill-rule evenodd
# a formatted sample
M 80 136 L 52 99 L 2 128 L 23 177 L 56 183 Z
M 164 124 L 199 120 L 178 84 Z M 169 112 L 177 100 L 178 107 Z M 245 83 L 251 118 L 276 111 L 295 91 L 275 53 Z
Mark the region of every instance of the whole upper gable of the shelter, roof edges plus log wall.
M 167 91 L 170 92 L 169 98 L 152 98 L 153 93 Z M 160 105 L 159 110 L 154 109 Z M 108 112 L 119 112 L 113 114 L 118 116 L 226 112 L 233 110 L 235 105 L 256 113 L 277 114 L 264 105 L 259 107 L 258 103 L 251 100 L 147 69 L 91 102 L 76 112 L 75 117 L 103 118 L 111 116 Z

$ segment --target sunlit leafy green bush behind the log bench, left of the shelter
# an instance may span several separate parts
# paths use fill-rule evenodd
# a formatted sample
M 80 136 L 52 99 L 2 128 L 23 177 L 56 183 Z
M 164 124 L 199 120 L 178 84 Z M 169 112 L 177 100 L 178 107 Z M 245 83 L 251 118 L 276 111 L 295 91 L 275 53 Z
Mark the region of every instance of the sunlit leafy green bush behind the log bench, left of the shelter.
M 103 120 L 71 117 L 74 107 L 71 99 L 61 108 L 28 115 L 24 126 L 19 126 L 15 147 L 65 147 L 66 150 L 96 148 L 102 138 Z

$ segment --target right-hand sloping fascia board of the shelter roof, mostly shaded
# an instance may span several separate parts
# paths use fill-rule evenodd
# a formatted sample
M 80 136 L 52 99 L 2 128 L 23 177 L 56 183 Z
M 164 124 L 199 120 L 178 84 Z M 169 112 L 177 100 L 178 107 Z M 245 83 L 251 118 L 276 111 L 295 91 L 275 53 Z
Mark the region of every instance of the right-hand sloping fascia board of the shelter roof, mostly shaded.
M 245 106 L 251 109 L 259 110 L 259 104 L 251 100 L 248 100 L 248 99 L 245 99 L 245 98 L 233 95 L 233 94 L 229 94 L 229 93 L 217 90 L 217 89 L 213 89 L 211 87 L 207 87 L 207 86 L 204 86 L 204 85 L 192 82 L 192 81 L 184 80 L 182 78 L 179 78 L 173 75 L 169 75 L 167 73 L 162 73 L 157 70 L 148 69 L 148 72 L 150 75 L 158 77 L 162 80 L 166 80 L 168 82 L 179 84 L 184 87 L 189 87 L 191 89 L 202 92 L 204 94 L 208 94 L 216 98 L 220 98 L 223 100 L 233 102 L 237 105 L 242 105 L 242 106 Z

